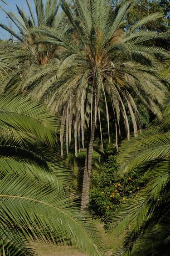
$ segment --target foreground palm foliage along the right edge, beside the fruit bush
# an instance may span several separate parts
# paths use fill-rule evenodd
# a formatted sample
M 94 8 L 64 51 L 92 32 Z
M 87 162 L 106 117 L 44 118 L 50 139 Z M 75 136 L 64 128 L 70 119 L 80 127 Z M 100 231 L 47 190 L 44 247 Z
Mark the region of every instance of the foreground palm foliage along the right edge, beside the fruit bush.
M 121 144 L 120 175 L 141 166 L 146 186 L 113 218 L 114 233 L 121 234 L 114 256 L 169 254 L 170 103 L 165 114 L 164 123 Z

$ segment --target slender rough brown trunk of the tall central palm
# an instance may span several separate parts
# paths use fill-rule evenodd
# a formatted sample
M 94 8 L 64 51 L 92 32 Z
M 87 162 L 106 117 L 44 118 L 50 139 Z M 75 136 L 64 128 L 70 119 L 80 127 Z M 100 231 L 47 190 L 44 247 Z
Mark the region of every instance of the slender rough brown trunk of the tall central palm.
M 93 141 L 94 141 L 94 132 L 95 132 L 95 100 L 93 97 L 92 104 L 92 122 L 90 124 L 90 136 L 88 139 L 87 145 L 87 155 L 84 166 L 84 174 L 83 174 L 83 190 L 82 190 L 82 202 L 81 202 L 81 210 L 86 208 L 88 199 L 89 199 L 89 189 L 90 189 L 90 178 L 92 173 L 92 151 L 93 151 Z

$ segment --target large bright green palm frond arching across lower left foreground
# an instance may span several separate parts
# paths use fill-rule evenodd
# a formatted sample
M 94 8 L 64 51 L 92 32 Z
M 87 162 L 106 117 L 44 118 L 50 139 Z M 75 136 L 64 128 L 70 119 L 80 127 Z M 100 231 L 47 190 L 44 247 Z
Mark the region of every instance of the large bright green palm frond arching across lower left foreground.
M 3 200 L 0 219 L 4 225 L 10 225 L 12 221 L 36 241 L 50 240 L 55 234 L 62 234 L 88 255 L 100 255 L 96 246 L 97 232 L 92 223 L 79 215 L 71 199 L 58 194 L 58 187 L 50 187 L 49 182 L 39 184 L 31 176 L 12 173 L 5 175 L 0 183 Z

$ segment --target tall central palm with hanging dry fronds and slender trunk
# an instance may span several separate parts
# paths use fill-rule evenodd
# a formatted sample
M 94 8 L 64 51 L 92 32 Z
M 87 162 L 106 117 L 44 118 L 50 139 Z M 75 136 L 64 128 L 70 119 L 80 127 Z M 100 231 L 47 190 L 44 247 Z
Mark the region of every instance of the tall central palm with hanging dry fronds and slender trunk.
M 159 106 L 166 92 L 160 82 L 164 77 L 159 74 L 159 69 L 160 60 L 165 59 L 168 53 L 164 49 L 148 46 L 147 42 L 169 38 L 169 34 L 140 30 L 143 24 L 160 18 L 162 14 L 149 15 L 126 30 L 126 14 L 134 1 L 125 1 L 114 11 L 111 2 L 74 0 L 73 8 L 63 0 L 62 8 L 72 24 L 67 33 L 45 26 L 30 30 L 37 35 L 38 41 L 41 37 L 43 44 L 59 46 L 58 56 L 47 65 L 34 65 L 28 76 L 24 76 L 24 81 L 15 84 L 18 92 L 32 91 L 62 116 L 60 139 L 63 145 L 63 125 L 66 124 L 67 152 L 72 130 L 76 154 L 77 138 L 80 141 L 81 137 L 84 147 L 84 131 L 87 131 L 82 208 L 88 201 L 93 140 L 97 118 L 101 123 L 101 101 L 106 106 L 108 134 L 107 102 L 108 99 L 112 101 L 117 145 L 121 116 L 127 137 L 130 137 L 127 109 L 131 114 L 134 133 L 140 128 L 134 95 L 158 118 L 162 118 Z

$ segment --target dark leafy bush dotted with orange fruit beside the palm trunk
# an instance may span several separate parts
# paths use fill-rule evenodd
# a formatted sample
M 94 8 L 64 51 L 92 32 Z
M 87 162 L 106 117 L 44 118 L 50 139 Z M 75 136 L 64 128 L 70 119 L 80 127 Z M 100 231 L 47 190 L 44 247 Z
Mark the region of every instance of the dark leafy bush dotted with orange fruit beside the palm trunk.
M 140 189 L 136 170 L 120 179 L 117 176 L 117 169 L 116 157 L 110 156 L 107 162 L 100 166 L 99 174 L 92 176 L 97 188 L 90 190 L 87 208 L 92 218 L 100 218 L 105 224 L 117 206 Z

